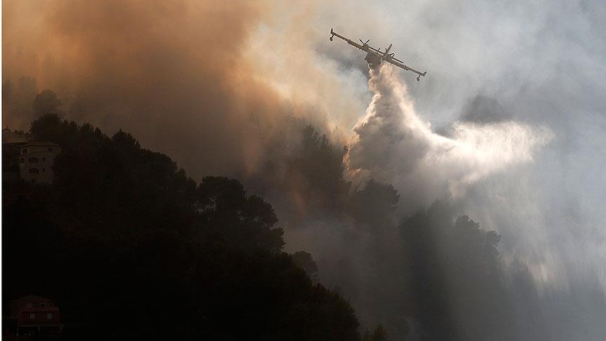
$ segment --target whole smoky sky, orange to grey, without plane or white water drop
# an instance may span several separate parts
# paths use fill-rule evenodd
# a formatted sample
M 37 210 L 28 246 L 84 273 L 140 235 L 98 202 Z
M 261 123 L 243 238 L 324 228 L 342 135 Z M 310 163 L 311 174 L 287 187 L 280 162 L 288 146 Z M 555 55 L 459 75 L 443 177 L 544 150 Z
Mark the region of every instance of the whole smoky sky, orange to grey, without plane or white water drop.
M 331 27 L 393 43 L 397 58 L 427 71 L 420 82 L 395 77 L 432 133 L 452 137 L 462 121 L 549 131 L 524 162 L 484 164 L 494 171 L 457 204 L 502 234 L 504 255 L 527 262 L 541 287 L 598 276 L 606 288 L 600 1 L 3 1 L 3 81 L 33 77 L 38 92 L 58 92 L 67 119 L 126 128 L 194 178 L 247 175 L 286 116 L 356 140 L 373 95 L 368 70 L 360 51 L 328 41 Z M 27 129 L 31 118 L 5 111 L 3 126 Z M 452 196 L 451 180 L 424 179 L 443 189 L 426 201 Z

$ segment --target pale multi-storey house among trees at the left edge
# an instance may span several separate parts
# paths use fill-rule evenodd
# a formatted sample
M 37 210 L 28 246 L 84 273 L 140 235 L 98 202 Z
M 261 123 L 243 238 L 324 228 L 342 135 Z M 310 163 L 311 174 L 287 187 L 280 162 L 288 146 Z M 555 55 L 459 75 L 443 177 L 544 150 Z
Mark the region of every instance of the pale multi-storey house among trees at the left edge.
M 53 183 L 53 163 L 61 146 L 53 142 L 29 142 L 19 151 L 20 178 L 34 183 Z

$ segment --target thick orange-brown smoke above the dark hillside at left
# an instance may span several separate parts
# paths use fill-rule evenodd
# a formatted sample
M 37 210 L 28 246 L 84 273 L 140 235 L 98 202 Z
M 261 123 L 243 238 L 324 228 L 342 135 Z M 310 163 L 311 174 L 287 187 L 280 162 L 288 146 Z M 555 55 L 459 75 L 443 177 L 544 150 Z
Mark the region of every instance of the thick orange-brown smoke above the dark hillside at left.
M 27 130 L 36 117 L 32 96 L 50 88 L 66 119 L 131 131 L 194 178 L 254 173 L 284 119 L 323 125 L 306 114 L 314 108 L 285 102 L 255 76 L 248 41 L 268 6 L 6 1 L 4 81 L 25 88 L 6 100 L 26 99 L 6 106 L 3 125 Z M 26 87 L 24 76 L 34 84 Z

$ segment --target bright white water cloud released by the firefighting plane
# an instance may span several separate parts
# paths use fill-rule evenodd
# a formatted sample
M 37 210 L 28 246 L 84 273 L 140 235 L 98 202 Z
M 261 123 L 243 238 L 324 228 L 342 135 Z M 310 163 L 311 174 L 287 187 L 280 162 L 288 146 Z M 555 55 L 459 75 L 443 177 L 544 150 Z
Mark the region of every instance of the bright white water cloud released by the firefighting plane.
M 553 138 L 544 126 L 516 121 L 456 122 L 448 136 L 439 135 L 415 112 L 393 67 L 370 72 L 368 86 L 374 95 L 354 128 L 358 138 L 346 160 L 352 177 L 381 180 L 410 194 L 403 198 L 403 207 L 464 196 L 478 180 L 532 161 Z

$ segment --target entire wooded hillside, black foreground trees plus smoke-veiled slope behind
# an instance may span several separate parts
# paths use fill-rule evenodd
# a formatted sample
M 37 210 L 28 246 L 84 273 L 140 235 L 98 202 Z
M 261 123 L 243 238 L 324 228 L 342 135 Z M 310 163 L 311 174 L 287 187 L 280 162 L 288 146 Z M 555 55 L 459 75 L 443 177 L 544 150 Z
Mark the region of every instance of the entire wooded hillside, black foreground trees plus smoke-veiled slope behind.
M 352 184 L 346 150 L 311 126 L 287 133 L 300 144 L 278 140 L 245 179 L 262 199 L 228 178 L 196 183 L 128 133 L 42 116 L 32 138 L 63 151 L 53 185 L 4 182 L 5 309 L 53 298 L 74 340 L 574 340 L 599 325 L 587 319 L 606 312 L 601 290 L 541 296 L 499 256 L 501 237 L 449 201 L 402 217 L 415 193 Z M 274 208 L 318 247 L 283 253 Z M 577 300 L 593 310 L 561 313 Z

